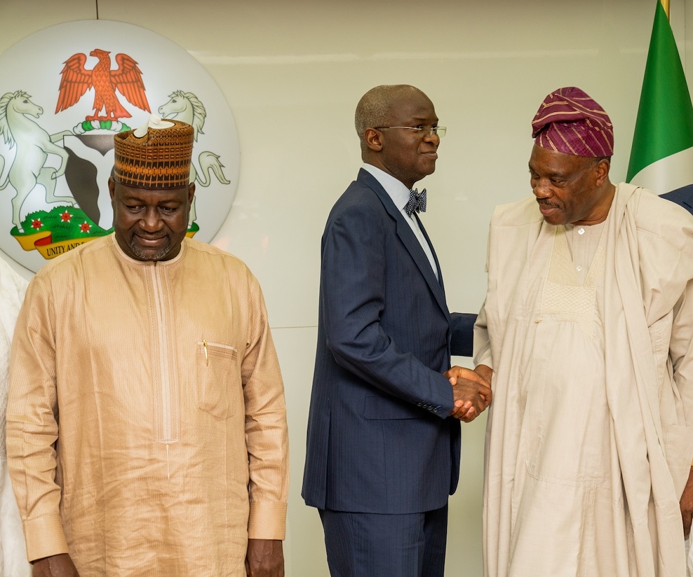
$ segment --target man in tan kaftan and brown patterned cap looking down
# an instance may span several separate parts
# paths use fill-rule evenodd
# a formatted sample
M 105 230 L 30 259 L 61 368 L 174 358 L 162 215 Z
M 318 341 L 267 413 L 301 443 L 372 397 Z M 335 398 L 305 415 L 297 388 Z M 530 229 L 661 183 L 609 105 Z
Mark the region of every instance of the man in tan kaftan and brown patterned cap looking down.
M 28 287 L 7 432 L 34 576 L 283 576 L 277 354 L 256 278 L 185 238 L 192 145 L 117 135 L 114 234 Z

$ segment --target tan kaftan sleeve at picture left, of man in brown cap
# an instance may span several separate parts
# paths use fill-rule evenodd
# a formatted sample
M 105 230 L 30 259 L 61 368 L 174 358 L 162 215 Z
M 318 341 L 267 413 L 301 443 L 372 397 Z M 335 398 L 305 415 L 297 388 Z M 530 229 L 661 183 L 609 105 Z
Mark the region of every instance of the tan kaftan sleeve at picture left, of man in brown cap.
M 35 277 L 19 312 L 10 357 L 8 468 L 24 525 L 28 560 L 67 553 L 55 483 L 58 398 L 55 311 L 44 277 Z

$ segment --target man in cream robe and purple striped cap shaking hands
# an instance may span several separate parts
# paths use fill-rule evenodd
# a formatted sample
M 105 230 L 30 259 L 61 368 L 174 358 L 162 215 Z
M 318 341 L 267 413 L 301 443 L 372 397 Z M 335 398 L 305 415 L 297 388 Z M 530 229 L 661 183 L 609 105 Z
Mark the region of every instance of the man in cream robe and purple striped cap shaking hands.
M 693 219 L 611 184 L 611 121 L 583 91 L 547 96 L 533 128 L 534 197 L 493 215 L 475 327 L 484 574 L 683 577 Z

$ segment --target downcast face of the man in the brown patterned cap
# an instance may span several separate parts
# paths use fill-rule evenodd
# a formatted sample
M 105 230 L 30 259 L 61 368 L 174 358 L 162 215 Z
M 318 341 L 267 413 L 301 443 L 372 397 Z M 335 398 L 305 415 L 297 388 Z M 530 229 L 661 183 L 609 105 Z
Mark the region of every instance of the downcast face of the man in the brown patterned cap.
M 188 230 L 195 185 L 149 190 L 110 178 L 113 228 L 123 252 L 135 260 L 170 260 Z

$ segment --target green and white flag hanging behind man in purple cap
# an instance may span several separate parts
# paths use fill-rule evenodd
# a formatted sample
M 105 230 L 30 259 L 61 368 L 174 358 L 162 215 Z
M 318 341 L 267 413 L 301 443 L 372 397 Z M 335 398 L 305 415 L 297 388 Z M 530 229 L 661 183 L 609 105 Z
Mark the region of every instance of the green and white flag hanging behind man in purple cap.
M 693 212 L 693 105 L 672 26 L 659 1 L 626 180 Z

